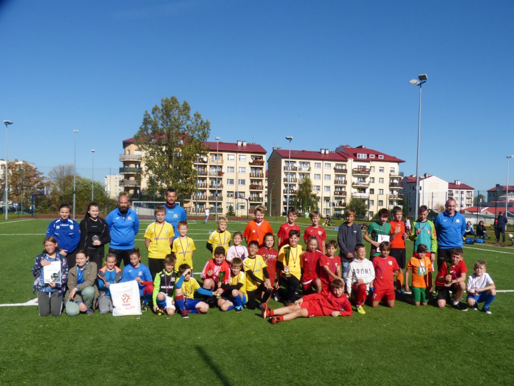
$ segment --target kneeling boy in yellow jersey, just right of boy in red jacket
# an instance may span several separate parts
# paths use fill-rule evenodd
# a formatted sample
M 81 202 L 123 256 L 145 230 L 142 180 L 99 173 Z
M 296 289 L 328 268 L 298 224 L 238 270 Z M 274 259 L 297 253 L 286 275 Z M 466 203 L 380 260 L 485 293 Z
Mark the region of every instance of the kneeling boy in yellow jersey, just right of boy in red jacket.
M 230 282 L 222 284 L 218 282 L 218 288 L 223 290 L 222 299 L 218 299 L 218 307 L 222 311 L 230 311 L 232 308 L 235 312 L 243 311 L 246 304 L 246 275 L 241 271 L 243 268 L 243 260 L 240 257 L 234 257 L 230 262 Z

